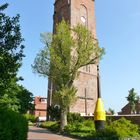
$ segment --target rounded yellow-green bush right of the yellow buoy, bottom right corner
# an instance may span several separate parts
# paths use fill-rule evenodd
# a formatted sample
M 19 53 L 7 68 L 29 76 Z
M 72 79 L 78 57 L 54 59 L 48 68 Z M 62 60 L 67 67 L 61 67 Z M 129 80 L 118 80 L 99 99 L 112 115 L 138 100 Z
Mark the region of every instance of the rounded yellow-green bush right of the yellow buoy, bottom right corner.
M 103 140 L 120 140 L 125 138 L 136 138 L 139 136 L 138 126 L 129 120 L 121 118 L 106 126 L 104 130 L 93 133 L 93 138 Z

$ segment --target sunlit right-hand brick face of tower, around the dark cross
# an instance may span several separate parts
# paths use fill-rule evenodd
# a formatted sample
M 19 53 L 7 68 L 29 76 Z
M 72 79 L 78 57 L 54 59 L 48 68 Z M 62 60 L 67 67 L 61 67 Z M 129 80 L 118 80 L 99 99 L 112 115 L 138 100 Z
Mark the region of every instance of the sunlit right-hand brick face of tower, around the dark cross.
M 95 9 L 93 0 L 71 0 L 71 26 L 82 23 L 81 16 L 86 17 L 86 26 L 93 33 L 96 38 L 96 25 L 95 25 Z M 82 8 L 83 7 L 83 8 Z M 84 11 L 85 10 L 85 11 Z M 90 70 L 87 71 L 85 67 L 79 69 L 80 75 L 74 81 L 77 87 L 77 96 L 85 97 L 85 89 L 87 92 L 87 115 L 92 114 L 95 109 L 95 102 L 97 100 L 97 66 L 89 65 Z M 85 100 L 78 99 L 76 104 L 70 108 L 71 112 L 85 113 Z

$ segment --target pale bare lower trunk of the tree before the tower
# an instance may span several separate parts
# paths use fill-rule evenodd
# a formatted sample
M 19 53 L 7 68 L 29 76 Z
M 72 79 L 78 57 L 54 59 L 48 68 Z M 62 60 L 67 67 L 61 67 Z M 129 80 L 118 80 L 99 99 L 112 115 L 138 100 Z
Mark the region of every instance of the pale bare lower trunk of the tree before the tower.
M 64 127 L 67 125 L 67 110 L 61 110 L 61 131 L 64 130 Z

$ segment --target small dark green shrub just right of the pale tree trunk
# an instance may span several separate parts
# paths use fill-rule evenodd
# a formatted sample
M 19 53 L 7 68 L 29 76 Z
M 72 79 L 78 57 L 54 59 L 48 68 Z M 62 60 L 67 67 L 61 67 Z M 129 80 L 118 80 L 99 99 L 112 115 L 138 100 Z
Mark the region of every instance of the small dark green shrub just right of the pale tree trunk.
M 67 116 L 68 123 L 77 123 L 77 122 L 83 122 L 84 118 L 80 116 L 79 113 L 68 113 Z

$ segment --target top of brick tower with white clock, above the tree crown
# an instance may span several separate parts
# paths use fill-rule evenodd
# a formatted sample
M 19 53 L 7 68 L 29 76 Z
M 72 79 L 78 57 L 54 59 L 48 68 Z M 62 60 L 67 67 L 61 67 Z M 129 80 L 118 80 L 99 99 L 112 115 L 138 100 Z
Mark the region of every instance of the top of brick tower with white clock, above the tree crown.
M 55 0 L 54 27 L 63 18 L 75 26 L 84 24 L 96 38 L 94 0 Z

